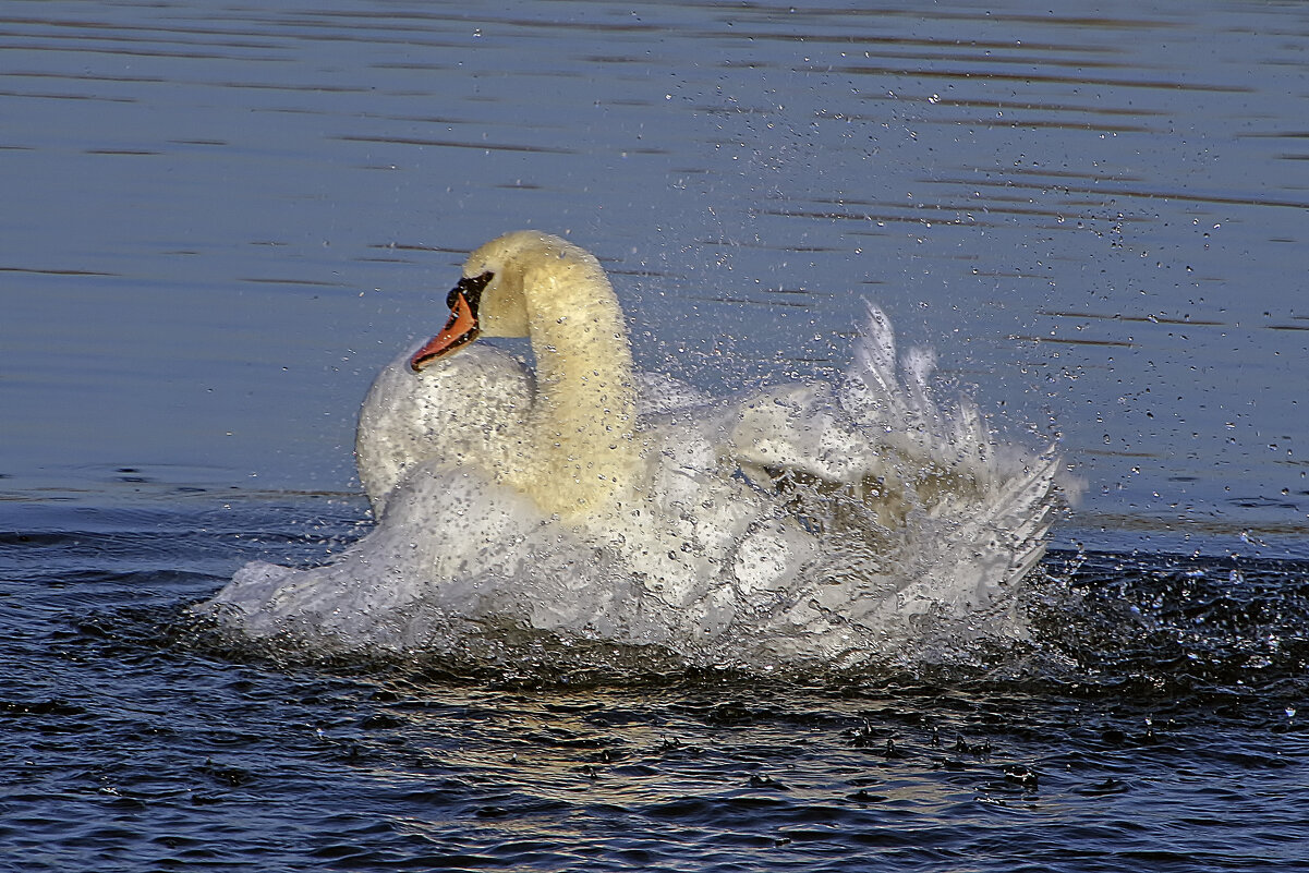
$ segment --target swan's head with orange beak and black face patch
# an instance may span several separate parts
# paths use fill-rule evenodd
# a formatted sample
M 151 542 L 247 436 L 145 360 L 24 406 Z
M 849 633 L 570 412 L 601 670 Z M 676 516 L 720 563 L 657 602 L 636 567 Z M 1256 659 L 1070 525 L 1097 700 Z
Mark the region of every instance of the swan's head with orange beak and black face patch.
M 539 230 L 514 230 L 492 240 L 463 263 L 463 277 L 446 296 L 450 318 L 441 332 L 410 359 L 418 372 L 439 357 L 486 336 L 526 336 L 529 325 L 528 285 L 531 274 L 556 275 L 571 267 L 600 270 L 584 249 Z

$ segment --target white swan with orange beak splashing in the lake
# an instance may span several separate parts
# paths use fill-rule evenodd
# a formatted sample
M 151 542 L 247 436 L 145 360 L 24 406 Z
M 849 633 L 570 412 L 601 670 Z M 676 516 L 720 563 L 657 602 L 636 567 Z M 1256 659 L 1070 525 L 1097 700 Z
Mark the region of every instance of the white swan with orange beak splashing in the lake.
M 314 644 L 458 650 L 513 626 L 716 664 L 1021 635 L 1005 610 L 1056 462 L 942 412 L 931 356 L 902 378 L 876 308 L 839 385 L 709 402 L 634 374 L 600 263 L 558 237 L 482 246 L 448 304 L 360 415 L 373 533 L 327 567 L 247 565 L 203 609 Z M 478 335 L 529 336 L 535 373 Z

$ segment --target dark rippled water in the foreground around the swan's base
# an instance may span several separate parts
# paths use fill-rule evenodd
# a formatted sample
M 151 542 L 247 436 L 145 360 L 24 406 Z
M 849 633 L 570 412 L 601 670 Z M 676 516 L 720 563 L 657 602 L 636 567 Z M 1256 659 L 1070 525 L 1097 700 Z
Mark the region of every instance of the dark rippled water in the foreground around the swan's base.
M 179 504 L 4 516 L 7 869 L 1304 865 L 1302 563 L 1056 552 L 949 670 L 325 662 L 181 607 L 360 507 Z

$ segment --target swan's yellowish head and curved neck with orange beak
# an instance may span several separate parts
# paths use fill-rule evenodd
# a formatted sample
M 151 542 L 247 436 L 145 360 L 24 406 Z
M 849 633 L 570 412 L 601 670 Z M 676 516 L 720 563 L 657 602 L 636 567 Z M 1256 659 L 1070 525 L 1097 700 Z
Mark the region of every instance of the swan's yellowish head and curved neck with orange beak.
M 528 336 L 537 363 L 529 402 L 511 415 L 509 450 L 483 469 L 563 518 L 630 491 L 640 462 L 632 352 L 600 262 L 558 237 L 509 233 L 469 257 L 448 304 L 445 329 L 410 359 L 415 372 L 479 335 Z M 479 425 L 503 424 L 487 412 Z

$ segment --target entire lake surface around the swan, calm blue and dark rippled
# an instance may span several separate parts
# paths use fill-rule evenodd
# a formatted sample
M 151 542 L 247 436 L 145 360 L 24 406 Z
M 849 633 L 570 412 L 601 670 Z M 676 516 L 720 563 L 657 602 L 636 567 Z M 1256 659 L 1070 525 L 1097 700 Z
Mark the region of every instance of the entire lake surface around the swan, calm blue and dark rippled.
M 0 868 L 1300 869 L 1309 8 L 12 1 Z M 1084 493 L 974 668 L 359 664 L 185 620 L 368 522 L 376 372 L 568 234 L 639 361 L 878 302 Z

